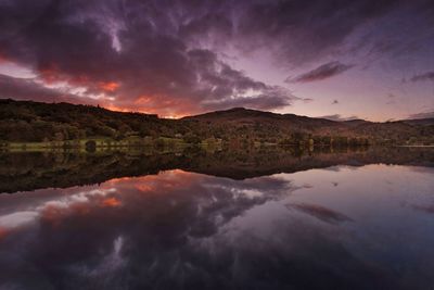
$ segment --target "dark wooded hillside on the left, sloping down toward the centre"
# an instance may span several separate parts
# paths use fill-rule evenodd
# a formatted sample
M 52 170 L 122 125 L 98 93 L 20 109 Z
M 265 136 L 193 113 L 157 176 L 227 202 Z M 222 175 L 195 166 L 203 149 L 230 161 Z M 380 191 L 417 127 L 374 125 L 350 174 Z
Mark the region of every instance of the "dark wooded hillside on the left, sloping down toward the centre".
M 5 141 L 174 135 L 177 124 L 156 115 L 114 112 L 91 105 L 0 100 L 0 140 Z

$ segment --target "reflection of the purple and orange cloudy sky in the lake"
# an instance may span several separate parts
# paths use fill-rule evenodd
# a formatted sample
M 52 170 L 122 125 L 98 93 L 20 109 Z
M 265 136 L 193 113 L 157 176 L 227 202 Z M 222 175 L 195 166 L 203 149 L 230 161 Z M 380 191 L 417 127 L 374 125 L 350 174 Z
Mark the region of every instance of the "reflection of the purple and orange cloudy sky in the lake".
M 430 174 L 368 165 L 232 180 L 176 169 L 2 194 L 0 285 L 423 288 L 434 227 L 401 204 L 433 198 Z

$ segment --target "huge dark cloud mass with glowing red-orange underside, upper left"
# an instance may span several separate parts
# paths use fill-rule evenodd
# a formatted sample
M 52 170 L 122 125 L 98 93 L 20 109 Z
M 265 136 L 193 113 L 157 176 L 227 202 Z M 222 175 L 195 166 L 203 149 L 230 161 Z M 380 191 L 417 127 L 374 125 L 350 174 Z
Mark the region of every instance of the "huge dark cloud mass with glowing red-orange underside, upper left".
M 179 35 L 230 28 L 218 15 L 200 16 L 212 4 L 192 10 L 197 15 L 190 15 L 190 4 L 29 2 L 27 8 L 37 13 L 27 13 L 26 5 L 7 2 L 0 15 L 16 15 L 5 17 L 2 27 L 15 33 L 2 29 L 1 54 L 47 83 L 66 81 L 87 92 L 115 96 L 117 108 L 189 113 L 234 103 L 271 110 L 296 100 L 231 68 L 214 51 L 188 47 Z M 104 89 L 105 84 L 114 84 L 113 89 Z

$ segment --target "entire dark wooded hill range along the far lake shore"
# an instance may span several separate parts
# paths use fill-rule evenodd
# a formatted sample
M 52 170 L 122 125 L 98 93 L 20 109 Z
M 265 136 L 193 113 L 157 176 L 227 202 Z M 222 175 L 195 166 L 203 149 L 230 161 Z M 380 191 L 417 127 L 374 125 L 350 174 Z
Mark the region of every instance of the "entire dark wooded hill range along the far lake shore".
M 41 142 L 85 138 L 220 139 L 233 144 L 434 143 L 432 119 L 374 123 L 363 119 L 276 114 L 244 108 L 181 119 L 99 106 L 0 100 L 0 141 Z

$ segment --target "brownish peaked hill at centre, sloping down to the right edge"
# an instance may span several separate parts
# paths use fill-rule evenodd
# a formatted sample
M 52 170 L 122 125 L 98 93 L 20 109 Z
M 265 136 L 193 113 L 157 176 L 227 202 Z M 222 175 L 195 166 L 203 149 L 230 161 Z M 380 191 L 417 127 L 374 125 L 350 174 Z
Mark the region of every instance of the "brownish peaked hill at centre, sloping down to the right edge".
M 298 116 L 294 114 L 275 114 L 243 108 L 205 113 L 184 117 L 201 124 L 212 124 L 224 128 L 233 136 L 252 135 L 259 139 L 281 139 L 299 134 L 314 137 L 366 138 L 380 143 L 433 143 L 434 125 L 429 119 L 417 122 L 396 121 L 375 123 L 365 119 L 345 122 Z M 240 129 L 243 128 L 243 129 Z M 305 139 L 306 137 L 302 137 Z M 319 138 L 321 139 L 321 138 Z

